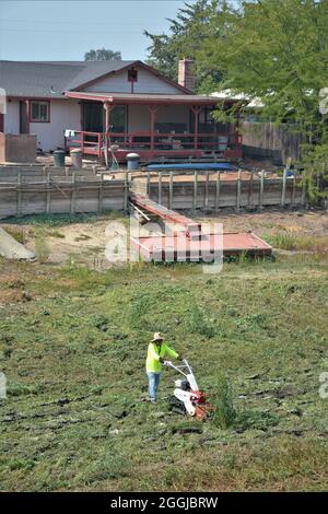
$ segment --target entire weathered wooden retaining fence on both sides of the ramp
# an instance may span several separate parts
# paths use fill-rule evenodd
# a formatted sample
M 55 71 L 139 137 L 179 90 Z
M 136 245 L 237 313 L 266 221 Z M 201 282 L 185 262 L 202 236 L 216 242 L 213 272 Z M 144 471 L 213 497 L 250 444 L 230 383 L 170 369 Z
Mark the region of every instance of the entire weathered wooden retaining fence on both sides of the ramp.
M 113 179 L 92 170 L 0 167 L 0 219 L 42 213 L 128 210 L 129 191 L 148 195 L 169 209 L 236 212 L 267 207 L 306 207 L 305 182 L 261 173 L 118 172 Z

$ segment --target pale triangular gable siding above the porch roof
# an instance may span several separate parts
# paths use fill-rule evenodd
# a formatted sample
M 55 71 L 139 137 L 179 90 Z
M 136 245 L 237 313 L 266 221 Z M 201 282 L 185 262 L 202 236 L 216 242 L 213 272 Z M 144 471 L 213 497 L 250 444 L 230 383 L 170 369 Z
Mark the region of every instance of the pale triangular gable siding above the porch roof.
M 165 82 L 143 68 L 138 69 L 138 81 L 133 83 L 134 93 L 149 94 L 181 94 L 181 90 Z M 131 82 L 128 81 L 128 70 L 117 72 L 106 79 L 101 79 L 86 89 L 94 93 L 131 93 Z

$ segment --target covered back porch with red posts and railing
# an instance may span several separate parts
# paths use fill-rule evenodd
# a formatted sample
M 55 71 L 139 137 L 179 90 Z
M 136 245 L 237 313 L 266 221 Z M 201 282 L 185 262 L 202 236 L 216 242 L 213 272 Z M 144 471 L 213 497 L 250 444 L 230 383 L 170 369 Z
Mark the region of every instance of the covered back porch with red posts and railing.
M 68 92 L 81 100 L 82 130 L 71 130 L 66 148 L 102 159 L 117 145 L 125 162 L 130 152 L 141 160 L 165 157 L 242 156 L 237 125 L 218 124 L 211 117 L 216 98 L 199 95 L 145 95 Z

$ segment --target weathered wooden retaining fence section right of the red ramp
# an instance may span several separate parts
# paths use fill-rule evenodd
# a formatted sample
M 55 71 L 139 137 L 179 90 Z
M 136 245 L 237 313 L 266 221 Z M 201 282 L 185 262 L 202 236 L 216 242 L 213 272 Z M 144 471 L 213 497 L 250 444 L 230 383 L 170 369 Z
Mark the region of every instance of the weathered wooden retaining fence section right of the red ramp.
M 305 180 L 300 177 L 266 177 L 261 172 L 245 174 L 227 179 L 220 172 L 194 172 L 189 176 L 148 173 L 134 177 L 131 189 L 148 195 L 152 200 L 169 209 L 209 209 L 219 212 L 223 208 L 256 210 L 266 207 L 306 207 Z M 236 174 L 234 174 L 236 176 Z

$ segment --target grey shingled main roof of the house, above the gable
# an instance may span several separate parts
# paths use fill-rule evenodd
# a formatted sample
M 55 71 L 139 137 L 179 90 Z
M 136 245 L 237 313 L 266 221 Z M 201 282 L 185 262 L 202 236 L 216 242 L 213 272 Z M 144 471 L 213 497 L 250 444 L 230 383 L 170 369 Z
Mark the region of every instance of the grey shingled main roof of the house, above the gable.
M 129 66 L 143 66 L 163 80 L 168 80 L 141 61 L 0 61 L 0 87 L 7 96 L 62 98 L 65 91 L 81 89 L 102 77 Z M 172 82 L 172 81 L 171 81 Z M 185 94 L 189 90 L 174 83 Z

